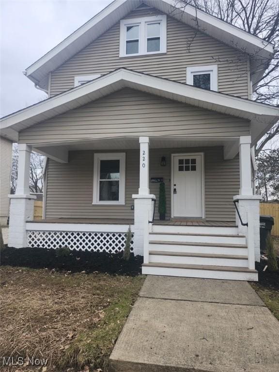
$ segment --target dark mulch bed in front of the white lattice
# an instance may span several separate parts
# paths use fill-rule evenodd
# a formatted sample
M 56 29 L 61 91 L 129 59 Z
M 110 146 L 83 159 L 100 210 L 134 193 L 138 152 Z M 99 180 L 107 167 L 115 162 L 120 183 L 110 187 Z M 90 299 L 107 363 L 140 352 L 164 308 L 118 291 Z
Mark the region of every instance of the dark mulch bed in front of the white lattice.
M 125 261 L 123 253 L 99 253 L 70 251 L 68 255 L 58 255 L 56 249 L 47 248 L 4 248 L 1 251 L 1 265 L 30 268 L 49 268 L 62 271 L 100 272 L 136 276 L 141 274 L 143 258 L 131 253 Z

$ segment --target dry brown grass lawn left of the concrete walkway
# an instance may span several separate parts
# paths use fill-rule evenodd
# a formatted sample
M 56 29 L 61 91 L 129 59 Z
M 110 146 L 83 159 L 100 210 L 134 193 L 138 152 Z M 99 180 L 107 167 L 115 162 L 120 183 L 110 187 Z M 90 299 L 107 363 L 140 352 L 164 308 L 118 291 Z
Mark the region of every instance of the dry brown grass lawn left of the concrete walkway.
M 47 358 L 47 371 L 80 369 L 84 364 L 91 371 L 106 369 L 142 281 L 143 277 L 1 267 L 0 355 Z

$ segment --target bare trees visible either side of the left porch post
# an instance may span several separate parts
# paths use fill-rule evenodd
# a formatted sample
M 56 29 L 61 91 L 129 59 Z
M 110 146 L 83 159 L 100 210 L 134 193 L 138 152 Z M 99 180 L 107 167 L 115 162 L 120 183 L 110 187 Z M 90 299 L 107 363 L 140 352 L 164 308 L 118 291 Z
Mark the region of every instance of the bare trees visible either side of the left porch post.
M 30 159 L 30 184 L 31 192 L 43 192 L 43 164 L 44 156 L 37 153 L 31 153 Z M 13 160 L 11 171 L 11 194 L 16 192 L 16 183 L 18 175 L 18 148 L 17 144 L 13 146 Z

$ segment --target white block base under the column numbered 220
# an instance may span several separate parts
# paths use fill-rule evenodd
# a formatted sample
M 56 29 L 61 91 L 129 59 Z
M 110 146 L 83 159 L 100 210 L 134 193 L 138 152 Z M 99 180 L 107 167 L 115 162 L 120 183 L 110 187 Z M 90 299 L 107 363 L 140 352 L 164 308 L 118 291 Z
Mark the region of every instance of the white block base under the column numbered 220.
M 134 217 L 134 254 L 143 256 L 144 223 L 148 212 L 149 220 L 153 217 L 152 199 L 155 195 L 132 195 L 135 200 Z

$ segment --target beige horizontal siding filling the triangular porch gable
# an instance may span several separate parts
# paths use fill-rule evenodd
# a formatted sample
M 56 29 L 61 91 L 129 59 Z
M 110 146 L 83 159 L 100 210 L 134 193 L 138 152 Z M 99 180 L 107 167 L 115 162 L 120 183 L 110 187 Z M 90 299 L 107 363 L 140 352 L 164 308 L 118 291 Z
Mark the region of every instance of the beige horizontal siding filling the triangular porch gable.
M 21 131 L 19 142 L 245 135 L 249 135 L 249 123 L 244 119 L 124 89 Z

